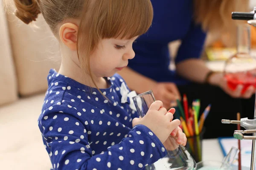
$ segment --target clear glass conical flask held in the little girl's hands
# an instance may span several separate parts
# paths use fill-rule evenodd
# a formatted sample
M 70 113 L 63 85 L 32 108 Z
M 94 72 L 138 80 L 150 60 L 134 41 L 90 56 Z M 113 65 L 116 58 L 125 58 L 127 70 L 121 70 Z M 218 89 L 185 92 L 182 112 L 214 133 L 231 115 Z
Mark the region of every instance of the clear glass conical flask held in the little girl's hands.
M 139 113 L 140 117 L 145 116 L 148 112 L 148 108 L 155 101 L 152 91 L 147 91 L 143 94 L 134 96 L 134 105 Z M 182 145 L 177 144 L 176 139 L 173 136 L 164 142 L 164 146 L 167 150 L 167 155 L 159 159 L 154 164 L 146 166 L 146 170 L 195 170 L 196 162 Z

